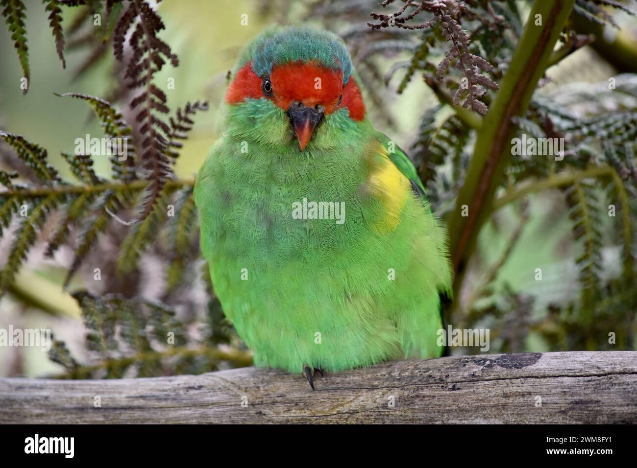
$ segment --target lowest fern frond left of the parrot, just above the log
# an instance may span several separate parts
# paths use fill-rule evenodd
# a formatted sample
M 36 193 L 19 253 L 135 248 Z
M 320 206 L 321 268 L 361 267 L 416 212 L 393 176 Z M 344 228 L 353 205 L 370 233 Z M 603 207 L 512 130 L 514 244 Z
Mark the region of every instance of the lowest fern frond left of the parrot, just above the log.
M 113 294 L 97 297 L 85 291 L 73 296 L 82 308 L 94 364 L 78 364 L 63 343 L 56 344 L 50 357 L 66 368 L 59 377 L 119 378 L 130 371 L 138 377 L 197 374 L 217 370 L 224 361 L 235 366 L 252 363 L 247 351 L 220 350 L 208 336 L 192 339 L 175 311 L 161 302 Z

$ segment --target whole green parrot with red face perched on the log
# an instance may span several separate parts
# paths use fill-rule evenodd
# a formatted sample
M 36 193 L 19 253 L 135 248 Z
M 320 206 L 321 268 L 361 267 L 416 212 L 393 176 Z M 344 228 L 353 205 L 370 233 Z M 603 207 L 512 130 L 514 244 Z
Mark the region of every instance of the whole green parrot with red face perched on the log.
M 273 27 L 241 53 L 194 197 L 215 294 L 261 367 L 438 357 L 447 233 L 366 117 L 340 38 Z

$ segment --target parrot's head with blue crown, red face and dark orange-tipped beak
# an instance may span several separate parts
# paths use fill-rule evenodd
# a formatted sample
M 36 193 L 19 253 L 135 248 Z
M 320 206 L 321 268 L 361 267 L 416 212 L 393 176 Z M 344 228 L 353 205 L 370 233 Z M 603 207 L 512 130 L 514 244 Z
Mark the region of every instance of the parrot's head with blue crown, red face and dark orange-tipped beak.
M 330 146 L 365 117 L 340 38 L 309 27 L 262 32 L 241 54 L 225 96 L 235 132 L 272 146 Z M 345 132 L 347 134 L 347 132 Z

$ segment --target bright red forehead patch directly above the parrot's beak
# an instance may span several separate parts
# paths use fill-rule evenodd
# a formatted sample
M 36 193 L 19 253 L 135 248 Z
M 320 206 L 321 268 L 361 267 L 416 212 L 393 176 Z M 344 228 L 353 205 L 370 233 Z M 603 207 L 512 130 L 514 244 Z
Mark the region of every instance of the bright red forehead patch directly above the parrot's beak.
M 293 62 L 275 66 L 270 74 L 274 103 L 287 110 L 292 101 L 306 106 L 322 104 L 326 113 L 336 109 L 343 92 L 343 73 L 313 63 Z

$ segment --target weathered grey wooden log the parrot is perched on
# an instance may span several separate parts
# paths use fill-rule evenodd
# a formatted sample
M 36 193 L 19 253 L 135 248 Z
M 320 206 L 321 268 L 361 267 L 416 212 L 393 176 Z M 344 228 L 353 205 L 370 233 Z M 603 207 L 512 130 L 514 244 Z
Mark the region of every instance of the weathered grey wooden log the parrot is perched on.
M 312 392 L 300 374 L 254 367 L 143 379 L 5 378 L 0 423 L 637 423 L 633 351 L 387 362 L 317 375 L 315 383 Z

